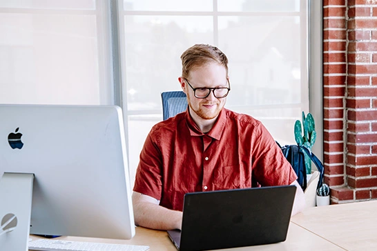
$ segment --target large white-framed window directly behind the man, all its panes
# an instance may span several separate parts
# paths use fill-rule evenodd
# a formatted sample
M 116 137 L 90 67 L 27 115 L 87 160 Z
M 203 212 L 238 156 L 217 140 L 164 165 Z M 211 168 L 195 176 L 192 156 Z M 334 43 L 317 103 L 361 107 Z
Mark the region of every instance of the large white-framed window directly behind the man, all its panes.
M 131 168 L 162 121 L 160 93 L 180 90 L 180 55 L 195 43 L 218 46 L 229 59 L 226 108 L 260 119 L 280 143 L 295 143 L 293 125 L 309 110 L 307 9 L 305 0 L 120 3 Z

